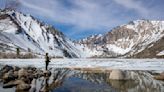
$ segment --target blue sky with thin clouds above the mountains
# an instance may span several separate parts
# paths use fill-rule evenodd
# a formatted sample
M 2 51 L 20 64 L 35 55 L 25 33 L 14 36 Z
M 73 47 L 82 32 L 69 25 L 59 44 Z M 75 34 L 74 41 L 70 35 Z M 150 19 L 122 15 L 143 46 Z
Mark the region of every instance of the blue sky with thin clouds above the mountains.
M 4 8 L 4 2 L 0 7 Z M 132 20 L 164 20 L 164 0 L 8 0 L 18 11 L 53 25 L 72 39 L 106 33 Z

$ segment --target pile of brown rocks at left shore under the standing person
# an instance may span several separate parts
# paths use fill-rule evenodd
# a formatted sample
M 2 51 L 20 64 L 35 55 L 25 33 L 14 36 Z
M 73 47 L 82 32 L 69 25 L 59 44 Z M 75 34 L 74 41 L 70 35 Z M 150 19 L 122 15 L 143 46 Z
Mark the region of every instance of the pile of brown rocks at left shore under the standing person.
M 50 71 L 44 71 L 35 67 L 19 68 L 16 66 L 4 66 L 0 71 L 0 79 L 3 88 L 16 87 L 16 92 L 35 92 L 33 87 L 36 79 L 51 76 Z

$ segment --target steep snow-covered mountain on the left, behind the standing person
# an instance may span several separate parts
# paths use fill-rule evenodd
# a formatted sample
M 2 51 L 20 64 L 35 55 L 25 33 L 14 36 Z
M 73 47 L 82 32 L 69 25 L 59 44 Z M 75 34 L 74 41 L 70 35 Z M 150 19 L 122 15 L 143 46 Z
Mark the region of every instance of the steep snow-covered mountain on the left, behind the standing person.
M 54 57 L 80 57 L 78 50 L 65 35 L 30 15 L 14 10 L 0 12 L 1 52 L 33 52 Z

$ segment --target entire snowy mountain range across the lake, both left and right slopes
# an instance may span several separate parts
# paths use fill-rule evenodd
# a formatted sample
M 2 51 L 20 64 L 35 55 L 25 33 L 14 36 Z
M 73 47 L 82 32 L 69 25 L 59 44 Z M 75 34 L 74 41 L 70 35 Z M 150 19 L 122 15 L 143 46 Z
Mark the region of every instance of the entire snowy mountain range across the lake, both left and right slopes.
M 136 20 L 108 33 L 71 41 L 52 26 L 13 10 L 0 12 L 0 55 L 33 53 L 53 57 L 164 57 L 164 21 Z

